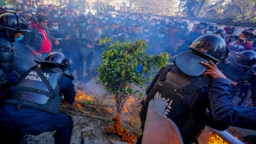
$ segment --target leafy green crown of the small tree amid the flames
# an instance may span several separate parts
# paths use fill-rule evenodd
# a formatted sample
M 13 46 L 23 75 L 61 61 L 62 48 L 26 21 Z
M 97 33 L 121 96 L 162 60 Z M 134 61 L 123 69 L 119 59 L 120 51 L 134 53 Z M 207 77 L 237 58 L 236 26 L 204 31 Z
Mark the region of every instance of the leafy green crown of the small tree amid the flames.
M 111 41 L 111 38 L 104 38 L 100 44 Z M 98 76 L 105 89 L 113 94 L 119 114 L 130 95 L 139 94 L 139 98 L 142 98 L 143 93 L 134 85 L 142 88 L 150 79 L 145 78 L 145 72 L 156 71 L 168 62 L 167 53 L 149 55 L 145 53 L 146 47 L 146 42 L 142 40 L 113 42 L 106 46 L 106 51 L 101 55 L 102 66 L 98 67 Z M 140 67 L 142 70 L 138 72 Z

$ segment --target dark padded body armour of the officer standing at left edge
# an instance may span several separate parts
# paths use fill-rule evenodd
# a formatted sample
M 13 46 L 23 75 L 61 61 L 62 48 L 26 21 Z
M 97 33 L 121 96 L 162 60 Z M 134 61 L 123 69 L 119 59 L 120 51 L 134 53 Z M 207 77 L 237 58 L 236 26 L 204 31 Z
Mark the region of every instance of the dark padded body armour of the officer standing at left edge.
M 11 43 L 0 37 L 0 69 L 5 74 L 10 74 L 14 70 L 14 50 Z

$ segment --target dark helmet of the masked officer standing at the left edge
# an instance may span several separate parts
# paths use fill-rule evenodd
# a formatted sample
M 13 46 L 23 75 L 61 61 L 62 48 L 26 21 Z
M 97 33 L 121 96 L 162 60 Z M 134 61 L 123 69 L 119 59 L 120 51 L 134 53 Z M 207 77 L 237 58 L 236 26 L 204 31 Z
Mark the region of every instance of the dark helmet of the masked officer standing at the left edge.
M 18 13 L 4 13 L 0 15 L 0 27 L 17 32 L 30 32 L 24 18 Z

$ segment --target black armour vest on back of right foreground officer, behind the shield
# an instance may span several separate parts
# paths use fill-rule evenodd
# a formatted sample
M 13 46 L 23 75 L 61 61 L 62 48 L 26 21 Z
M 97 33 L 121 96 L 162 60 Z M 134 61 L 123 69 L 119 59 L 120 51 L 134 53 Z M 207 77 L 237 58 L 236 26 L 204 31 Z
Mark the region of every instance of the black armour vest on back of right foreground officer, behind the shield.
M 146 112 L 151 99 L 162 98 L 166 101 L 165 116 L 178 126 L 184 143 L 198 143 L 198 136 L 204 129 L 203 122 L 194 119 L 194 105 L 200 94 L 200 89 L 207 86 L 210 78 L 202 78 L 196 82 L 181 75 L 170 72 L 174 65 L 164 67 L 160 71 L 157 81 L 153 84 L 150 93 L 140 111 L 142 126 L 146 122 Z

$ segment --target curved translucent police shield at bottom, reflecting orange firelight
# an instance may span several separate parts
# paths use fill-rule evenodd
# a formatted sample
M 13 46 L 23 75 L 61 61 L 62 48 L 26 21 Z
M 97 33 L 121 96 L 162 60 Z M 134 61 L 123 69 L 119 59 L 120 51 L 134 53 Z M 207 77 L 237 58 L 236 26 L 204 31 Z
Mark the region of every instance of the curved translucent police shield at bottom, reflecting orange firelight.
M 162 98 L 150 101 L 142 144 L 183 143 L 178 127 L 169 118 L 163 116 L 165 109 L 166 104 Z

